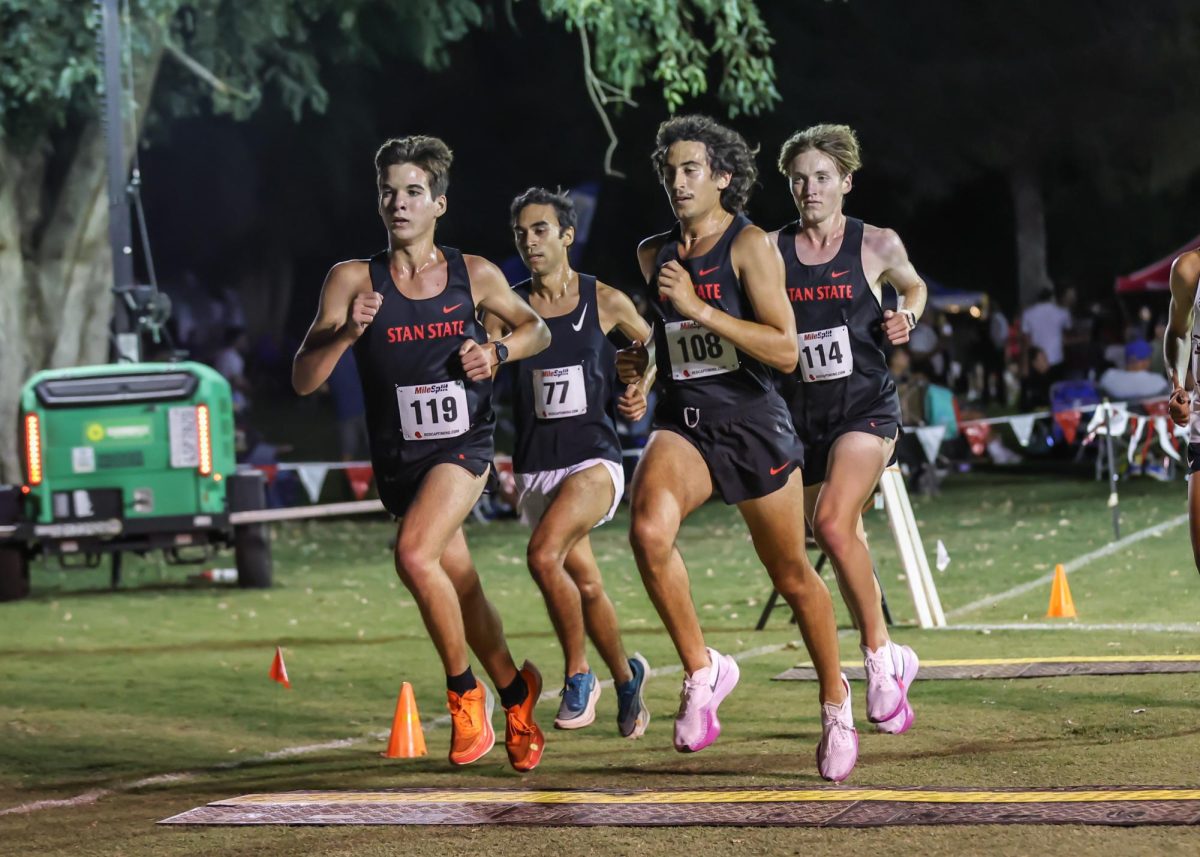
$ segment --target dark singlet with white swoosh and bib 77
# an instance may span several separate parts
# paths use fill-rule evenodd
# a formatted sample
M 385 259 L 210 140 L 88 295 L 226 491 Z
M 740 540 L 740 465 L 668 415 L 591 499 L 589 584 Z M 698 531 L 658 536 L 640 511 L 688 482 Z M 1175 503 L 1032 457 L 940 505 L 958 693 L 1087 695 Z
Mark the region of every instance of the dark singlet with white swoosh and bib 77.
M 533 284 L 517 284 L 526 301 Z M 550 346 L 514 364 L 517 473 L 557 471 L 589 459 L 620 462 L 613 422 L 617 349 L 600 328 L 596 278 L 580 274 L 574 312 L 546 318 Z

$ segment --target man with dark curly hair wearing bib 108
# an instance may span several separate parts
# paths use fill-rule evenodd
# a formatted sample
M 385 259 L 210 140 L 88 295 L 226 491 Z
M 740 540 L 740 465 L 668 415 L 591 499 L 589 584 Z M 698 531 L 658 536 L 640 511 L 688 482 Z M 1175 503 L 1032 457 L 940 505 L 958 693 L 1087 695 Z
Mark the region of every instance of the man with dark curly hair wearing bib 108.
M 677 116 L 659 126 L 653 161 L 678 223 L 638 247 L 665 394 L 634 477 L 630 541 L 686 671 L 676 749 L 716 739 L 718 706 L 738 681 L 737 663 L 704 646 L 676 546 L 683 520 L 715 489 L 738 505 L 800 622 L 821 682 L 817 767 L 840 781 L 854 767 L 858 736 L 833 603 L 804 550 L 803 448 L 768 371 L 794 367 L 796 323 L 779 251 L 743 214 L 757 175 L 754 154 L 707 116 Z M 647 361 L 643 349 L 624 352 L 622 380 L 637 379 Z

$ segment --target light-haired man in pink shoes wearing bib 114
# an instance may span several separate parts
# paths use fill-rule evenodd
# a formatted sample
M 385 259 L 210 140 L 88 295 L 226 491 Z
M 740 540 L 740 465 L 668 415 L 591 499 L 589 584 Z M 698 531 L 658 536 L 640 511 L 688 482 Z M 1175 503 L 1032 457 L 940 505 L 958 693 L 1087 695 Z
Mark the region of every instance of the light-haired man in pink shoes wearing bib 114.
M 862 510 L 900 431 L 883 343 L 908 341 L 925 308 L 925 283 L 899 235 L 842 212 L 859 166 L 858 139 L 845 125 L 800 131 L 780 152 L 800 212 L 774 233 L 800 350 L 781 388 L 804 442 L 805 513 L 862 636 L 866 717 L 881 732 L 898 733 L 912 725 L 908 688 L 918 659 L 888 639 Z M 900 295 L 898 312 L 882 308 L 884 282 Z

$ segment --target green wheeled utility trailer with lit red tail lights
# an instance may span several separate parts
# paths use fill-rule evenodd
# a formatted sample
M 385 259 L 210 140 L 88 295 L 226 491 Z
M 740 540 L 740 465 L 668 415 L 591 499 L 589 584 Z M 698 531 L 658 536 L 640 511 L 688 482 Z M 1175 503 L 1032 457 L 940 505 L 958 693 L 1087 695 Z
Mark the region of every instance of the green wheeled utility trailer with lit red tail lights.
M 29 594 L 30 559 L 95 568 L 163 551 L 202 563 L 232 546 L 238 583 L 271 585 L 263 475 L 234 463 L 229 384 L 198 362 L 38 372 L 20 397 L 24 483 L 0 486 L 0 601 Z M 246 517 L 241 515 L 241 517 Z

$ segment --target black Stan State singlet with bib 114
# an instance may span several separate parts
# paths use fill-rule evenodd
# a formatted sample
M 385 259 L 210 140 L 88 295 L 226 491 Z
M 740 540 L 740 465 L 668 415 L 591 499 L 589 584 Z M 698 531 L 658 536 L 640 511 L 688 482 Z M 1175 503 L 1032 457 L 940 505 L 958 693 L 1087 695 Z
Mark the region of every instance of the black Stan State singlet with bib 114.
M 782 379 L 796 427 L 896 409 L 895 382 L 883 353 L 883 307 L 863 272 L 863 221 L 846 218 L 838 254 L 806 265 L 796 254 L 799 223 L 779 230 L 787 298 L 796 313 L 800 359 Z

